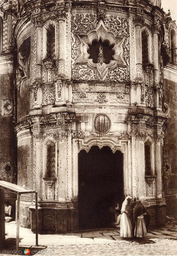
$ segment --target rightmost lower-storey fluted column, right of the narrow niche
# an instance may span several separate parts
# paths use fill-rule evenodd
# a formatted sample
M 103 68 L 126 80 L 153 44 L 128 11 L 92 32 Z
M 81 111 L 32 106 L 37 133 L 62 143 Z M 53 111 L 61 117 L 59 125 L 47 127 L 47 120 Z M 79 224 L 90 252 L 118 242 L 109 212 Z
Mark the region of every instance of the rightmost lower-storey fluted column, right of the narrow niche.
M 156 172 L 156 195 L 162 197 L 162 179 L 161 179 L 161 152 L 160 142 L 155 143 L 155 172 Z

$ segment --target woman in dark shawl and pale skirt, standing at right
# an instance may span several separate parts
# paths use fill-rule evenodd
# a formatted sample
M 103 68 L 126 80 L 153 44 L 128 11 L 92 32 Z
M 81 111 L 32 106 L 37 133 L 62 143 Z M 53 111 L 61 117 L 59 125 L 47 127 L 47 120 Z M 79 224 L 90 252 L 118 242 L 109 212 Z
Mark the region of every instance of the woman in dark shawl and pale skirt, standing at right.
M 149 227 L 149 214 L 140 200 L 136 200 L 133 210 L 134 235 L 136 237 L 147 236 Z

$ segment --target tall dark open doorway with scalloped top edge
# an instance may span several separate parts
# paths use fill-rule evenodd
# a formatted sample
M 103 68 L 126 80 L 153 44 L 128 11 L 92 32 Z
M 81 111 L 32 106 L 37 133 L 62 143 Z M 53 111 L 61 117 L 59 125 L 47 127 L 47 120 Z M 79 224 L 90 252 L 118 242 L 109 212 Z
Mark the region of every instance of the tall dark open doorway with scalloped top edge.
M 124 201 L 123 154 L 93 146 L 78 154 L 79 228 L 110 228 L 117 202 Z

